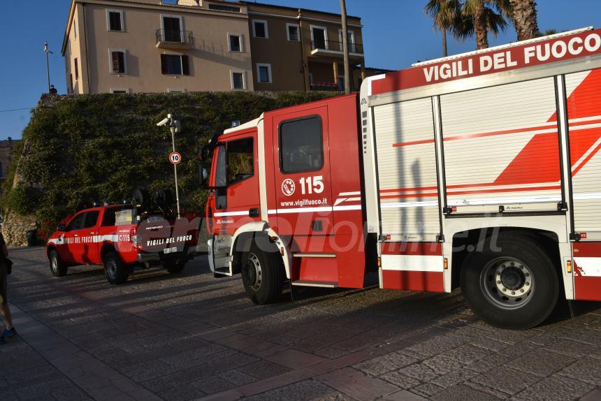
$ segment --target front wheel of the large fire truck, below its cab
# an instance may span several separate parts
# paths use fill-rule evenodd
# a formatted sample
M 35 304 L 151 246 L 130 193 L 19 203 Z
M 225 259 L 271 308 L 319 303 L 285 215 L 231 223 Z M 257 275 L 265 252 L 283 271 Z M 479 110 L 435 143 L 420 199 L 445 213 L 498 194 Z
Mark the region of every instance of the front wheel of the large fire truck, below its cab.
M 270 251 L 270 249 L 274 249 Z M 275 302 L 282 293 L 284 262 L 266 237 L 256 237 L 242 261 L 242 284 L 252 302 Z

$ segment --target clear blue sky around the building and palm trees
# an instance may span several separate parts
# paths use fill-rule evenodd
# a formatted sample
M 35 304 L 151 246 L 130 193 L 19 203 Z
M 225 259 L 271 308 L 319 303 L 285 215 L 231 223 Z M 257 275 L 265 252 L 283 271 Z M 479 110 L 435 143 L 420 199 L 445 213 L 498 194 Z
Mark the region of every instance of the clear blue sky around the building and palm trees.
M 262 0 L 282 6 L 340 12 L 339 0 Z M 426 0 L 347 0 L 347 13 L 361 17 L 366 64 L 371 67 L 401 69 L 417 60 L 440 57 L 441 38 L 433 31 L 431 20 L 423 14 Z M 538 0 L 540 29 L 560 31 L 587 26 L 601 27 L 601 1 Z M 21 138 L 29 122 L 29 110 L 3 112 L 34 107 L 42 92 L 48 91 L 44 41 L 50 43 L 50 80 L 59 93 L 66 92 L 61 43 L 71 0 L 3 0 L 1 15 L 24 15 L 6 18 L 0 31 L 0 139 Z M 569 4 L 569 6 L 566 6 Z M 510 27 L 491 45 L 515 41 Z M 475 49 L 475 41 L 449 41 L 449 54 Z

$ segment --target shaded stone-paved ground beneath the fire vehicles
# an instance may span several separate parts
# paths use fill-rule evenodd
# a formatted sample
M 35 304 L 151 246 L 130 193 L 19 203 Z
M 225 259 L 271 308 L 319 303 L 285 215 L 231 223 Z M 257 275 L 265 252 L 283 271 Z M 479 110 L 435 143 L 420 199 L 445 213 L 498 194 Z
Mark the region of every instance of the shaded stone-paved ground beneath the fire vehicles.
M 3 401 L 601 400 L 600 303 L 509 331 L 460 292 L 320 290 L 257 307 L 205 256 L 122 286 L 96 267 L 55 279 L 41 248 L 11 258 L 20 337 L 0 347 Z

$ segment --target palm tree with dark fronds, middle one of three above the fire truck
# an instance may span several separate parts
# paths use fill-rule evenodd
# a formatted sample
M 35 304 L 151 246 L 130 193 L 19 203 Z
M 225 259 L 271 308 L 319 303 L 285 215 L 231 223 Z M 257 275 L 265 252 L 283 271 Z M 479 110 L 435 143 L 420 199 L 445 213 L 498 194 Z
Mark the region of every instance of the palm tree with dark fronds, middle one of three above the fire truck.
M 474 24 L 478 50 L 488 48 L 488 32 L 497 36 L 507 28 L 505 17 L 512 15 L 509 0 L 465 0 L 463 13 L 471 17 Z M 470 36 L 471 32 L 465 32 Z

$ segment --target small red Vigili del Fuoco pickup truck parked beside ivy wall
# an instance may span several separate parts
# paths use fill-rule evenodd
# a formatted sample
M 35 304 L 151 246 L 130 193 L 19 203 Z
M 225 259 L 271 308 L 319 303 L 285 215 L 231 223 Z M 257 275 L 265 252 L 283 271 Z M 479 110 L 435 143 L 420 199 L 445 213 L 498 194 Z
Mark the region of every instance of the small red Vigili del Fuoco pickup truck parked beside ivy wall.
M 104 265 L 108 282 L 122 284 L 134 268 L 161 264 L 181 272 L 196 254 L 197 242 L 196 221 L 138 214 L 135 205 L 108 205 L 81 210 L 59 226 L 46 254 L 55 277 L 73 265 Z

